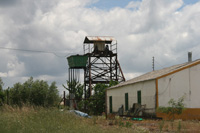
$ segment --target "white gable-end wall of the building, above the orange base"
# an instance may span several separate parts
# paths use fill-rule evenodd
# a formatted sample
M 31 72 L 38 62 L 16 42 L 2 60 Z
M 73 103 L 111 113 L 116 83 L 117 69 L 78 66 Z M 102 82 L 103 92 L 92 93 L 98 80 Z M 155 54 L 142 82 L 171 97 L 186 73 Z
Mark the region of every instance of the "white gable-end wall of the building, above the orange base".
M 158 79 L 158 105 L 184 96 L 187 108 L 200 108 L 200 65 Z

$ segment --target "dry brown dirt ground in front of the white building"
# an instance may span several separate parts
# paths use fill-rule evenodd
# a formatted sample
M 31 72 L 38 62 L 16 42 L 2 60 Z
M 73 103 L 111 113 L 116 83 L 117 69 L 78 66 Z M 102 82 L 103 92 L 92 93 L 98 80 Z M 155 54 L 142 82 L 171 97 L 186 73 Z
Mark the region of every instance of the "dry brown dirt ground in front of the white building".
M 115 118 L 105 120 L 102 118 L 93 118 L 93 123 L 100 125 L 102 128 L 128 128 L 140 130 L 141 132 L 185 132 L 200 133 L 200 121 L 198 120 L 141 120 L 135 121 L 130 118 Z M 142 129 L 142 130 L 141 130 Z M 130 131 L 129 130 L 129 131 Z M 139 132 L 140 132 L 139 131 Z

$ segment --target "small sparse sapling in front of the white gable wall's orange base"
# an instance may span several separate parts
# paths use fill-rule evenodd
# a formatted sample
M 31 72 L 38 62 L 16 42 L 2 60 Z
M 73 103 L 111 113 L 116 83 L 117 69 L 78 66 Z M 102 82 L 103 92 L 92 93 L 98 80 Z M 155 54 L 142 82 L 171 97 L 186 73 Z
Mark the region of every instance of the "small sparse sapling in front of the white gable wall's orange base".
M 183 101 L 184 101 L 184 96 L 180 97 L 178 101 L 175 101 L 174 99 L 170 99 L 168 102 L 169 104 L 168 107 L 159 107 L 157 111 L 168 114 L 170 117 L 172 117 L 172 120 L 174 120 L 175 115 L 182 114 L 183 110 L 185 109 L 185 105 Z

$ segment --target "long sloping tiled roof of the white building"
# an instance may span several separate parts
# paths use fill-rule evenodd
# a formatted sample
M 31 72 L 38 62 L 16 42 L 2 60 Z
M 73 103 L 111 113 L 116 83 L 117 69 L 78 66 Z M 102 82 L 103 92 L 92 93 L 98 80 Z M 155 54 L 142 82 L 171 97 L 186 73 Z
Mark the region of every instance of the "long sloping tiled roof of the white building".
M 116 86 L 112 86 L 108 89 L 118 88 L 118 87 L 122 87 L 122 86 L 125 86 L 125 85 L 130 85 L 130 84 L 134 84 L 134 83 L 142 82 L 142 81 L 147 81 L 147 80 L 159 79 L 159 78 L 165 77 L 167 75 L 181 71 L 183 69 L 192 67 L 192 66 L 197 65 L 197 64 L 200 64 L 200 59 L 195 60 L 195 61 L 191 61 L 191 62 L 186 62 L 186 63 L 183 63 L 183 64 L 174 65 L 174 66 L 171 66 L 171 67 L 166 67 L 166 68 L 163 68 L 163 69 L 160 69 L 160 70 L 148 72 L 148 73 L 143 74 L 141 76 L 127 80 L 125 82 L 122 82 L 122 83 L 120 83 Z

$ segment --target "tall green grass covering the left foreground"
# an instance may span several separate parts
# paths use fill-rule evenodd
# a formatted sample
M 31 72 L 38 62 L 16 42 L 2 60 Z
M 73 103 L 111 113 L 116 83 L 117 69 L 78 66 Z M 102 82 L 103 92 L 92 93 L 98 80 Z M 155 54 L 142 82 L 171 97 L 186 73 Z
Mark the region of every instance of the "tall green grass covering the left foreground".
M 105 120 L 106 121 L 106 120 Z M 42 107 L 0 107 L 0 132 L 2 133 L 102 133 L 131 132 L 130 129 L 94 124 L 93 119 L 82 118 Z M 132 130 L 133 131 L 133 130 Z

